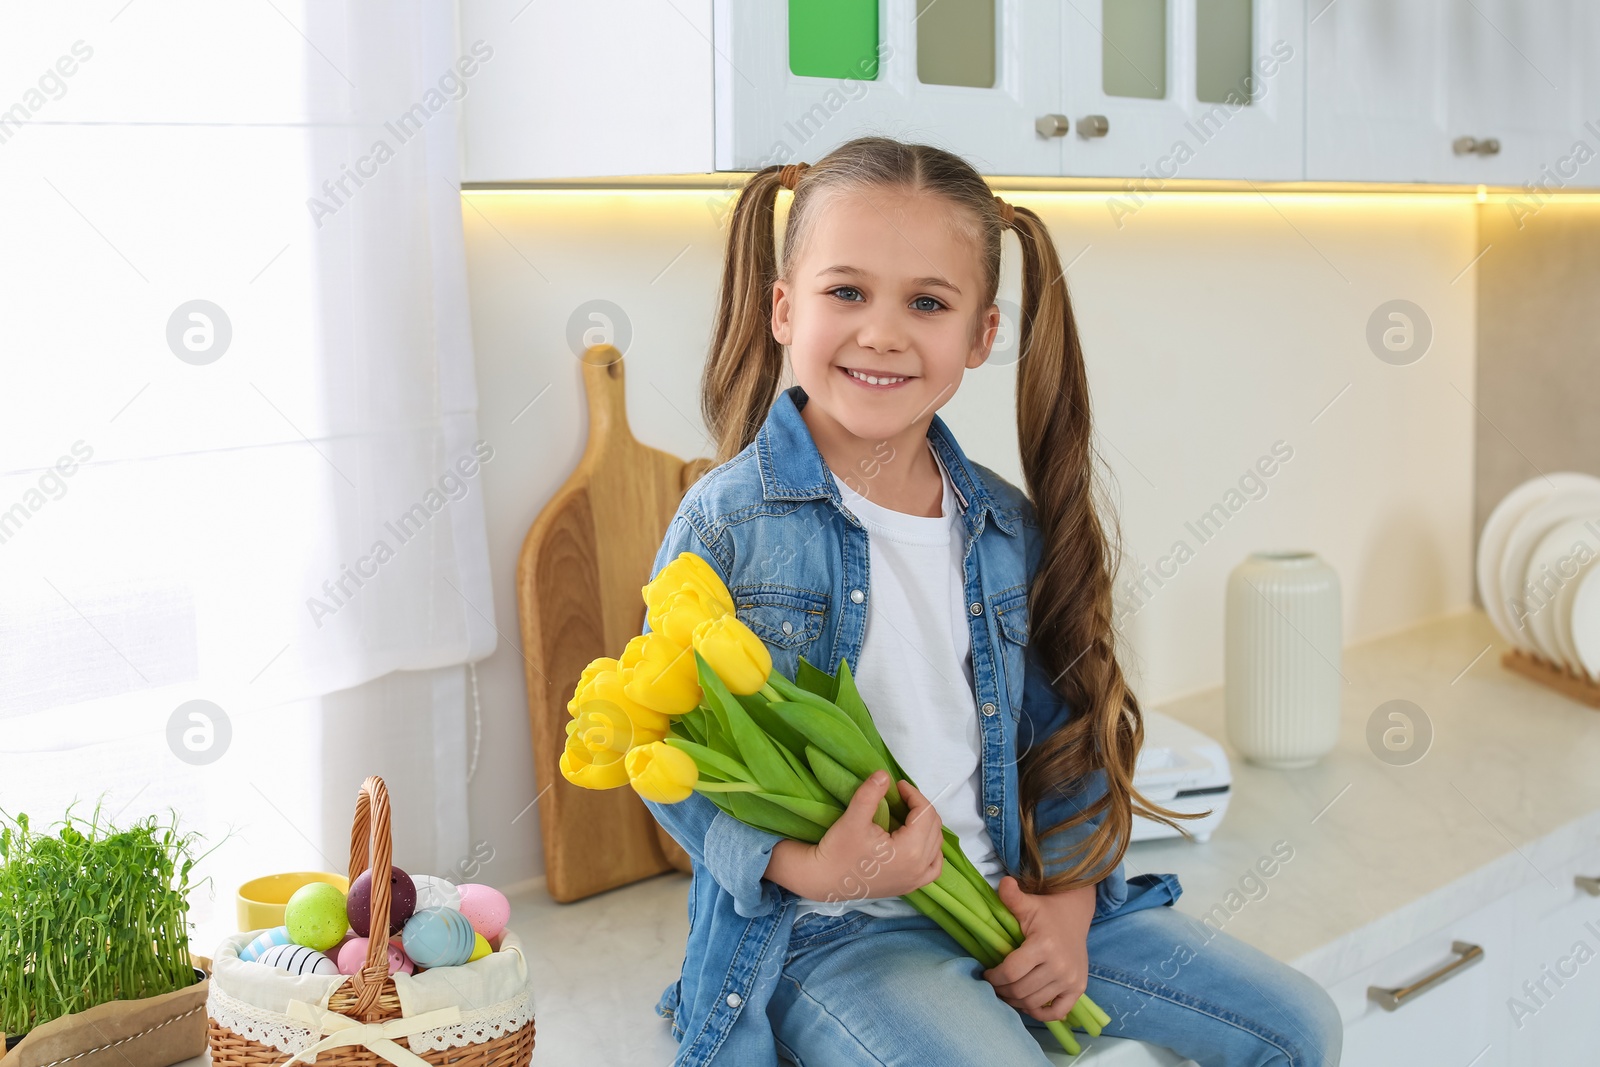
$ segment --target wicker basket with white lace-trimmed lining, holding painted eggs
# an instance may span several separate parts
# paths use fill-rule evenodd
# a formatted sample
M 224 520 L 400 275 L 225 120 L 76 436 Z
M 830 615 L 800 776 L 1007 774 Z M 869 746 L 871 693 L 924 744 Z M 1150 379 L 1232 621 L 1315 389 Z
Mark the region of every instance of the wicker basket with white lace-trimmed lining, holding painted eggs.
M 368 845 L 373 854 L 371 929 L 387 929 L 389 792 L 376 774 L 362 782 L 355 801 L 352 883 L 366 870 Z M 490 957 L 454 968 L 429 968 L 414 977 L 389 974 L 387 937 L 371 939 L 366 966 L 350 976 L 291 976 L 259 968 L 238 960 L 238 949 L 256 933 L 224 941 L 213 958 L 206 1003 L 213 1067 L 269 1067 L 291 1061 L 317 1067 L 526 1067 L 533 1057 L 528 968 L 520 941 L 509 931 L 499 952 Z M 512 1000 L 499 1005 L 525 1008 L 502 1016 L 504 1025 L 485 1022 L 485 1008 L 494 1005 L 477 1001 L 507 992 Z M 406 1000 L 413 1008 L 426 1003 L 427 1009 L 408 1013 L 402 1006 Z M 450 1003 L 453 1000 L 456 1003 Z M 450 1046 L 440 1048 L 440 1043 Z M 413 1049 L 413 1045 L 422 1048 Z

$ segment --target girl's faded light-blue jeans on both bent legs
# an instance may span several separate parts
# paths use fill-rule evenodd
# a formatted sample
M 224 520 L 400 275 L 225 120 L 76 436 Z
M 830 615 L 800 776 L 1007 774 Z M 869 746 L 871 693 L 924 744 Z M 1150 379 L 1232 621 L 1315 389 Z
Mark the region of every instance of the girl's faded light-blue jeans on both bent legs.
M 1110 1016 L 1110 1037 L 1202 1067 L 1339 1062 L 1344 1027 L 1317 982 L 1168 905 L 1091 925 L 1088 958 L 1086 992 Z M 1054 1035 L 1000 1000 L 982 971 L 922 915 L 805 915 L 768 1017 L 798 1067 L 1050 1067 Z

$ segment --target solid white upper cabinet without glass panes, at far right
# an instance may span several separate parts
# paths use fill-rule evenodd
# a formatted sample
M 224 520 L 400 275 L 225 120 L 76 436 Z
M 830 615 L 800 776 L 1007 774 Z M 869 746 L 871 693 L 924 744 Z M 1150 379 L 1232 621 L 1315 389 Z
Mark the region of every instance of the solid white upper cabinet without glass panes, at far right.
M 1307 179 L 1525 186 L 1579 138 L 1600 150 L 1584 0 L 1309 3 Z M 1600 165 L 1566 171 L 1600 184 Z

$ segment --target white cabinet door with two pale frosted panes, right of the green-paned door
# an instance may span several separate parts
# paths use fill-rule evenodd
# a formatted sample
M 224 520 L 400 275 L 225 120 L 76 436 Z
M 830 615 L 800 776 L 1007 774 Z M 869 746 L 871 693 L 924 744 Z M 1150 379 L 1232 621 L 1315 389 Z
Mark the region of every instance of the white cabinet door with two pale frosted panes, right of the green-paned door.
M 1061 32 L 1066 174 L 1301 178 L 1299 0 L 1080 0 Z

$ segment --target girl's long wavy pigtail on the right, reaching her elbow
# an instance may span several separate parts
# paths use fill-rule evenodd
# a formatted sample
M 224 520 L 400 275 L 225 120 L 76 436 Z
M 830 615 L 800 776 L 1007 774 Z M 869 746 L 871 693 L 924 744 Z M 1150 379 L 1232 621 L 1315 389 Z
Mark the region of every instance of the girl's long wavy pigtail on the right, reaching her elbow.
M 1117 662 L 1117 539 L 1107 539 L 1094 499 L 1088 371 L 1050 230 L 1021 206 L 1013 208 L 1011 229 L 1022 248 L 1018 443 L 1042 544 L 1027 598 L 1029 646 L 1054 691 L 1077 712 L 1018 768 L 1022 867 L 1034 883 L 1024 888 L 1054 893 L 1091 885 L 1122 861 L 1134 811 L 1174 829 L 1171 819 L 1202 816 L 1152 805 L 1133 787 L 1144 717 Z M 1106 773 L 1106 792 L 1040 833 L 1034 824 L 1038 803 L 1062 785 L 1080 787 L 1096 769 Z M 1045 841 L 1101 814 L 1099 827 L 1067 853 L 1069 869 L 1046 880 Z

